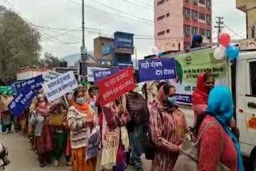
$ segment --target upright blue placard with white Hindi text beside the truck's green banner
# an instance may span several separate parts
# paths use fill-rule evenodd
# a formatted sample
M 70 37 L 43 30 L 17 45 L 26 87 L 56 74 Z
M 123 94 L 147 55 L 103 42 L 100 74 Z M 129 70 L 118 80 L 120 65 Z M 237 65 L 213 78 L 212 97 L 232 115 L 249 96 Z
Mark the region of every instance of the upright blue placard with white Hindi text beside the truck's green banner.
M 174 58 L 138 60 L 138 72 L 140 82 L 176 78 Z

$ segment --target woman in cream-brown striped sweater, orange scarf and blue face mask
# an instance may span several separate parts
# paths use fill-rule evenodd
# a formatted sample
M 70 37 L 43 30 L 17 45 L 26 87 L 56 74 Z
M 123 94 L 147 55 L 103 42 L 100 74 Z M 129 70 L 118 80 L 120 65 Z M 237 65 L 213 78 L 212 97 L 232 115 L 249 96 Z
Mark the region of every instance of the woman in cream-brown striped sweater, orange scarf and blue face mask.
M 86 161 L 86 147 L 94 117 L 81 89 L 74 92 L 74 102 L 68 111 L 67 122 L 70 127 L 71 156 L 73 171 L 94 171 L 97 159 Z

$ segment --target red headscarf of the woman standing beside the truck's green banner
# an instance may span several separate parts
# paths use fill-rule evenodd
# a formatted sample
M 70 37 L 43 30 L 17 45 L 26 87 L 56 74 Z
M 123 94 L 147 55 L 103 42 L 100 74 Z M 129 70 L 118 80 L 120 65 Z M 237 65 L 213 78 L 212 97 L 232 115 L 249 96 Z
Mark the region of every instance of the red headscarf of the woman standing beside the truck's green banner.
M 193 105 L 207 105 L 209 90 L 206 88 L 204 76 L 205 73 L 198 75 L 197 85 L 192 95 Z

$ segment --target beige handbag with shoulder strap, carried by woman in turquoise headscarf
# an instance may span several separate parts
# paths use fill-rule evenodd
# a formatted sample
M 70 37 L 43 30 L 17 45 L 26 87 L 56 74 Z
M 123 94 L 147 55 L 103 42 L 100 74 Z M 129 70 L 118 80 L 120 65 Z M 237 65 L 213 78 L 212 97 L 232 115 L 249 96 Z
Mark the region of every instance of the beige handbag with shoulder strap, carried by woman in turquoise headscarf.
M 174 171 L 181 171 L 181 170 L 190 170 L 190 171 L 198 171 L 198 149 L 200 148 L 200 139 L 202 134 L 206 131 L 206 129 L 210 125 L 218 124 L 216 121 L 209 121 L 204 125 L 202 128 L 201 133 L 198 136 L 198 141 L 193 142 L 190 138 L 190 133 L 186 134 L 186 137 L 182 143 L 181 153 L 178 156 L 178 160 L 174 165 Z M 223 143 L 224 143 L 224 135 L 222 135 L 221 141 L 221 150 L 218 153 L 218 162 L 216 166 L 216 171 L 230 171 L 225 165 L 223 165 L 219 161 L 219 157 L 223 151 Z

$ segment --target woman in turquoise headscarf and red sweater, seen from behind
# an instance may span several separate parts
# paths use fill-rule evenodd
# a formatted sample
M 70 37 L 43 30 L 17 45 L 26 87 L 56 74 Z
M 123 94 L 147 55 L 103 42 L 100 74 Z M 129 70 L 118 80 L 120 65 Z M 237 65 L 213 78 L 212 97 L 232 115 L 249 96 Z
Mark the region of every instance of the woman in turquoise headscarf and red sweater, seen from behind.
M 199 171 L 216 170 L 217 161 L 230 171 L 244 170 L 238 140 L 227 124 L 233 114 L 230 89 L 216 86 L 210 91 L 206 112 L 198 115 L 195 125 L 196 135 L 202 134 L 198 153 Z M 202 133 L 204 126 L 209 123 L 212 124 Z

